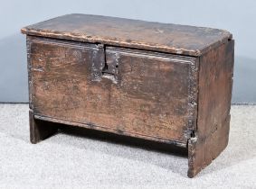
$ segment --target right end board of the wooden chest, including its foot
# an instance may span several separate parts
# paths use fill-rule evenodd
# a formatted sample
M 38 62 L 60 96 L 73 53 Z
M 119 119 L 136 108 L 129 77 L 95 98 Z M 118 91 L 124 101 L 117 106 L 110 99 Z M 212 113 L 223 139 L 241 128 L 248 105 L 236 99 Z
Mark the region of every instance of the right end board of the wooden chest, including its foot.
M 190 177 L 209 165 L 228 144 L 233 47 L 231 40 L 200 58 L 197 127 L 188 143 Z

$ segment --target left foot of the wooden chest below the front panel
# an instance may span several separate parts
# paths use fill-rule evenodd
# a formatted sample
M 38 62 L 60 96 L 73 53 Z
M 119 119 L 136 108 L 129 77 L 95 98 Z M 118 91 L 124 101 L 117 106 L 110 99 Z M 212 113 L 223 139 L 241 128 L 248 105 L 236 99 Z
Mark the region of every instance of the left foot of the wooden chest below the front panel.
M 47 139 L 58 131 L 56 125 L 50 121 L 35 120 L 32 110 L 29 110 L 30 141 L 33 144 Z

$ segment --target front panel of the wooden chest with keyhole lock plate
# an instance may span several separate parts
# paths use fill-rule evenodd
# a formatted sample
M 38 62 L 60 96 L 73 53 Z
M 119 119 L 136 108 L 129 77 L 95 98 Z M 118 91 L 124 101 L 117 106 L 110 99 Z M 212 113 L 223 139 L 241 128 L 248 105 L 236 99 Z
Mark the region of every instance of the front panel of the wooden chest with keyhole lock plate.
M 194 58 L 120 48 L 106 48 L 104 58 L 97 46 L 36 40 L 30 51 L 35 113 L 186 143 Z

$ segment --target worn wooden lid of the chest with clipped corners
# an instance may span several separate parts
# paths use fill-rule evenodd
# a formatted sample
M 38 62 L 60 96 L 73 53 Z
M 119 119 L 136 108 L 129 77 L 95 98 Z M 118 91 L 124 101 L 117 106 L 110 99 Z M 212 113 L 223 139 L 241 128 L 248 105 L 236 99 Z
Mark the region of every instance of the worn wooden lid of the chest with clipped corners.
M 24 27 L 22 32 L 194 57 L 232 39 L 230 32 L 219 29 L 88 14 L 63 15 Z

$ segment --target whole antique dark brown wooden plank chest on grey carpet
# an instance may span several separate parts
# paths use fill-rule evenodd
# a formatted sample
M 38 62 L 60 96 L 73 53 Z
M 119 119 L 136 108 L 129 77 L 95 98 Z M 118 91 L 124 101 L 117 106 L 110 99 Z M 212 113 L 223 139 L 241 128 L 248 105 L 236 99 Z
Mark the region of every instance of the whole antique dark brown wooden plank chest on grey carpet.
M 188 148 L 188 176 L 228 143 L 228 31 L 69 14 L 24 27 L 32 143 L 51 122 Z M 42 123 L 39 120 L 48 123 Z

